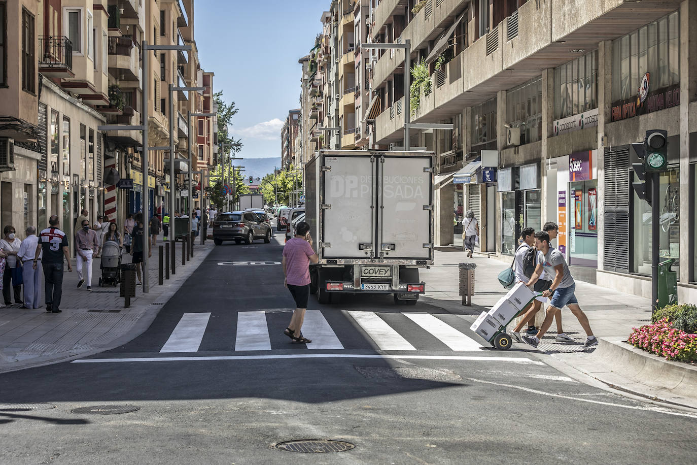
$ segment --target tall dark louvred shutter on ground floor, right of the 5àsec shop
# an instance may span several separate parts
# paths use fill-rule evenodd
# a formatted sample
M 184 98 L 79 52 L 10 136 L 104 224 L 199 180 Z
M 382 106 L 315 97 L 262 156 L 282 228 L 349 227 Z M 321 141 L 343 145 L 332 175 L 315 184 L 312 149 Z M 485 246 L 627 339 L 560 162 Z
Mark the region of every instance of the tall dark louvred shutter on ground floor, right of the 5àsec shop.
M 603 268 L 629 273 L 629 147 L 605 152 Z

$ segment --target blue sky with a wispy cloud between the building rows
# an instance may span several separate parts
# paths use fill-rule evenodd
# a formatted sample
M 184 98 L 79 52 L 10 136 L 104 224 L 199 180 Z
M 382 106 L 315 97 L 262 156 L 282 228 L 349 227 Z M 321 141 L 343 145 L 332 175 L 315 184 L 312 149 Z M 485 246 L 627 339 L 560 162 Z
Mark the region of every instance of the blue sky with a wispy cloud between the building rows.
M 240 110 L 232 135 L 243 158 L 281 156 L 281 127 L 299 107 L 301 67 L 329 0 L 196 0 L 194 38 L 213 91 Z

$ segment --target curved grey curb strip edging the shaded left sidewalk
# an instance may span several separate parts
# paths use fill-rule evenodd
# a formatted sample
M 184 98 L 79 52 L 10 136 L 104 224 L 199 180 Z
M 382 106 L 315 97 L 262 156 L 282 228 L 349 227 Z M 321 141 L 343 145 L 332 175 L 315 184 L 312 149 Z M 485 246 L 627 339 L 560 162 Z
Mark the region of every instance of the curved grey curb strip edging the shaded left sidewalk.
M 127 342 L 134 340 L 139 335 L 145 333 L 145 331 L 150 327 L 151 323 L 160 313 L 160 310 L 164 307 L 164 304 L 169 302 L 174 294 L 181 289 L 183 281 L 187 280 L 194 272 L 203 264 L 203 262 L 208 258 L 210 252 L 213 252 L 214 247 L 208 248 L 205 252 L 201 252 L 203 247 L 199 247 L 199 252 L 194 254 L 194 258 L 189 261 L 185 268 L 178 266 L 177 271 L 183 270 L 183 273 L 177 274 L 170 277 L 169 282 L 164 281 L 162 286 L 155 284 L 151 287 L 151 291 L 148 294 L 141 294 L 141 299 L 138 305 L 132 305 L 129 308 L 123 308 L 123 310 L 130 311 L 132 317 L 136 320 L 133 326 L 130 326 L 128 330 L 124 333 L 116 334 L 112 339 L 107 342 L 102 342 L 99 346 L 93 346 L 88 351 L 83 351 L 75 353 L 75 351 L 66 351 L 57 356 L 49 356 L 46 358 L 35 358 L 23 360 L 22 363 L 15 362 L 17 365 L 11 366 L 9 369 L 6 367 L 0 367 L 0 374 L 17 372 L 22 369 L 38 368 L 46 365 L 54 365 L 56 363 L 69 362 L 71 360 L 77 360 L 78 358 L 85 358 L 93 356 L 97 353 L 102 353 L 116 347 L 121 346 Z M 188 266 L 189 264 L 193 266 Z M 153 305 L 157 302 L 158 305 Z M 162 303 L 163 305 L 159 305 Z M 0 360 L 2 362 L 3 360 Z M 14 364 L 14 363 L 13 363 Z

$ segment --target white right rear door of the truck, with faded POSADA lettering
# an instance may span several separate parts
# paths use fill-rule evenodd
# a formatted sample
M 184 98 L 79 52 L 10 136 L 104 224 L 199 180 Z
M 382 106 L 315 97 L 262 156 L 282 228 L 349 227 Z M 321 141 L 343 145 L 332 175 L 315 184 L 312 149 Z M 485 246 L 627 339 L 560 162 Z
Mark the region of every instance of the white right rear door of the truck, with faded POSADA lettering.
M 384 259 L 431 259 L 430 156 L 384 155 L 378 162 L 378 252 Z

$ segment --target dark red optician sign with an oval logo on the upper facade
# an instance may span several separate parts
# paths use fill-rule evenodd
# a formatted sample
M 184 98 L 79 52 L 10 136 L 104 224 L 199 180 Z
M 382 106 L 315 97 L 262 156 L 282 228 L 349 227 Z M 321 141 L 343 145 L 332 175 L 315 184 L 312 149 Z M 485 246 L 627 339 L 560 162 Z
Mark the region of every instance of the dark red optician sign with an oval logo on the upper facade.
M 621 121 L 677 105 L 680 105 L 680 84 L 652 91 L 651 76 L 650 73 L 646 73 L 641 79 L 636 96 L 613 102 L 611 121 Z

